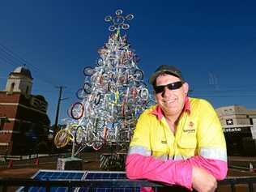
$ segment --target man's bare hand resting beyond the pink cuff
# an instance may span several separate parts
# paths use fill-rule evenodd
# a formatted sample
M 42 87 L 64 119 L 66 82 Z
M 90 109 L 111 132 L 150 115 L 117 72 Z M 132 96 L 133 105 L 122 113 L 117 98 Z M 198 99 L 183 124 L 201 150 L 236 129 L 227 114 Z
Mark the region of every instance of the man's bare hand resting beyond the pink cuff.
M 198 192 L 215 191 L 217 188 L 217 181 L 206 170 L 194 167 L 192 169 L 192 187 Z

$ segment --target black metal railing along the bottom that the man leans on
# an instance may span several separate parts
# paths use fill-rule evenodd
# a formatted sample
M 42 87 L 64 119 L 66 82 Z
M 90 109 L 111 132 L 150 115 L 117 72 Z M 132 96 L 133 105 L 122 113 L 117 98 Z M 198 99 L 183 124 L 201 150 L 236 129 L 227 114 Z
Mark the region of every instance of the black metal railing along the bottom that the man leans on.
M 217 191 L 222 191 L 221 186 L 229 186 L 232 192 L 238 192 L 237 185 L 245 184 L 248 187 L 248 190 L 253 192 L 256 190 L 254 185 L 256 185 L 256 176 L 255 177 L 228 177 L 224 179 L 224 181 L 218 182 Z M 45 187 L 46 192 L 50 192 L 52 187 L 66 187 L 66 191 L 71 192 L 74 191 L 77 187 L 85 187 L 88 192 L 96 191 L 96 188 L 139 188 L 143 186 L 151 186 L 157 191 L 159 188 L 164 187 L 163 184 L 152 181 L 144 181 L 144 180 L 128 180 L 128 179 L 87 179 L 85 181 L 80 180 L 62 180 L 62 181 L 38 181 L 27 178 L 1 178 L 0 177 L 0 191 L 7 192 L 10 186 L 23 186 L 23 191 L 27 192 L 29 187 Z M 165 186 L 166 187 L 166 186 Z M 170 187 L 170 191 L 172 191 L 172 186 Z M 113 190 L 114 191 L 114 190 Z M 174 191 L 174 190 L 173 190 Z M 226 190 L 223 190 L 226 191 Z

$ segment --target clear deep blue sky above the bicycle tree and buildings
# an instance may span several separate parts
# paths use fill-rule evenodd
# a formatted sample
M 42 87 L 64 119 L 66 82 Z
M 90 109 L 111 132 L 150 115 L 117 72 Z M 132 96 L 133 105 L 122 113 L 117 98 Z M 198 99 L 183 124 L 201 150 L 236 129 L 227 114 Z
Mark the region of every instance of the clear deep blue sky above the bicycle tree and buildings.
M 148 77 L 161 64 L 179 67 L 194 90 L 218 108 L 256 109 L 255 1 L 5 1 L 0 6 L 0 89 L 26 61 L 32 94 L 49 102 L 54 123 L 58 89 L 66 86 L 59 119 L 83 84 L 83 67 L 95 66 L 97 49 L 109 37 L 105 15 L 122 8 L 134 14 L 126 32 Z M 8 61 L 8 62 L 6 62 Z

